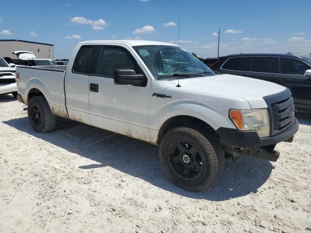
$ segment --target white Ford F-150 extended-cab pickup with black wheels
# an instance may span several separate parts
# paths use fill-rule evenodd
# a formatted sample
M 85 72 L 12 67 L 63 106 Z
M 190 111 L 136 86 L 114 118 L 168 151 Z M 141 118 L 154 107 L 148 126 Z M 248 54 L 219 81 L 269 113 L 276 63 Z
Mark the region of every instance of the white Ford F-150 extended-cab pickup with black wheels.
M 192 191 L 221 174 L 225 156 L 276 161 L 275 145 L 298 130 L 289 89 L 216 75 L 176 45 L 80 42 L 66 67 L 17 67 L 17 99 L 36 132 L 55 116 L 160 146 L 168 178 Z

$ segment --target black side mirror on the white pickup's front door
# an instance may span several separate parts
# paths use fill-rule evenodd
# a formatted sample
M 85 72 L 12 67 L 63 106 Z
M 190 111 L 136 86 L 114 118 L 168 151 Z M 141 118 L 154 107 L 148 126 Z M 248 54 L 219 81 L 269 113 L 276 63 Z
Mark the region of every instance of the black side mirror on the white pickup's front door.
M 134 69 L 115 69 L 115 84 L 146 86 L 146 77 Z

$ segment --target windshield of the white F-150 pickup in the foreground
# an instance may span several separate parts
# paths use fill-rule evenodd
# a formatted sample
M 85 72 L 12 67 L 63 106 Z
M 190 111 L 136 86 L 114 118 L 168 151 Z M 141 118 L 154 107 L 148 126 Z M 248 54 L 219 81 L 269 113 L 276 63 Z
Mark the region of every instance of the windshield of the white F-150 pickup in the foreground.
M 189 74 L 188 78 L 197 77 L 198 75 L 195 74 L 204 73 L 204 76 L 215 74 L 186 50 L 180 49 L 180 54 L 178 54 L 178 47 L 176 46 L 148 45 L 134 46 L 133 48 L 152 72 L 155 79 L 166 76 L 170 78 L 174 76 L 174 79 L 177 79 L 178 77 L 174 74 L 178 73 L 178 69 L 180 75 Z M 185 76 L 180 78 L 185 78 Z

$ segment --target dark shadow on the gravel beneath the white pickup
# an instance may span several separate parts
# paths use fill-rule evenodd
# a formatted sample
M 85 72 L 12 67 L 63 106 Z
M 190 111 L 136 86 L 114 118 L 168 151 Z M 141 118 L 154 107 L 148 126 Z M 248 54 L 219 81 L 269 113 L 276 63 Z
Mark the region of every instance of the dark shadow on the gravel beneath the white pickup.
M 274 168 L 269 161 L 244 156 L 226 164 L 223 175 L 212 187 L 195 193 L 166 179 L 159 163 L 158 147 L 149 143 L 63 118 L 58 119 L 52 133 L 34 132 L 27 117 L 3 123 L 94 161 L 82 164 L 81 169 L 111 166 L 161 189 L 193 199 L 222 201 L 256 193 Z

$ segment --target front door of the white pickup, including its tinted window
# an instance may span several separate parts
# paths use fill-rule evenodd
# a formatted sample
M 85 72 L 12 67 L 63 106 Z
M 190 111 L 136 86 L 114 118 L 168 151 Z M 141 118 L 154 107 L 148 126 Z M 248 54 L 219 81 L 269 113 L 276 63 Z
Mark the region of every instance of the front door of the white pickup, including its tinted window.
M 146 76 L 125 47 L 99 46 L 96 56 L 98 62 L 89 77 L 91 125 L 148 141 L 150 80 L 146 86 L 114 83 L 115 69 L 134 69 Z

